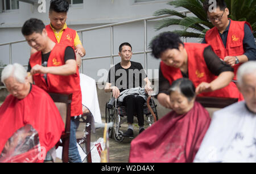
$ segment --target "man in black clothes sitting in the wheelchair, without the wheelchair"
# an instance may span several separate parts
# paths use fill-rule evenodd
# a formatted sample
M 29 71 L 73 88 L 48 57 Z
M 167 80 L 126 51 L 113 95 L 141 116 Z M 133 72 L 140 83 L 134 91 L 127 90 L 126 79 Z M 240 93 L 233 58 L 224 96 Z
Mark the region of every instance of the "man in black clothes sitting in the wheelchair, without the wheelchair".
M 133 137 L 133 117 L 135 113 L 138 117 L 139 133 L 142 133 L 144 130 L 143 105 L 146 102 L 146 96 L 135 96 L 133 95 L 134 90 L 138 90 L 139 92 L 142 86 L 144 86 L 144 93 L 146 92 L 145 94 L 150 95 L 152 88 L 150 87 L 150 80 L 148 80 L 141 63 L 130 61 L 133 55 L 131 45 L 129 43 L 122 43 L 119 46 L 118 54 L 121 57 L 121 62 L 117 63 L 117 65 L 109 70 L 105 92 L 112 91 L 115 99 L 118 99 L 122 93 L 122 105 L 126 107 L 128 123 L 128 129 L 122 136 Z

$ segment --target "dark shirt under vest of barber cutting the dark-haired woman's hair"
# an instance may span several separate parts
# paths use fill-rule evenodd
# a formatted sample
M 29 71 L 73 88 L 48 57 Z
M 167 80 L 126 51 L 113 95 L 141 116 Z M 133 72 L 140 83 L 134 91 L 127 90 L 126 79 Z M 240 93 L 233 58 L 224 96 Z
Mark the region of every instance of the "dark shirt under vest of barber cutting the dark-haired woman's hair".
M 218 58 L 218 56 L 213 52 L 212 47 L 211 46 L 207 46 L 207 48 L 204 49 L 204 61 L 209 69 L 209 71 L 218 76 L 220 75 L 222 72 L 225 71 L 234 71 L 233 68 L 231 66 L 229 66 L 228 64 L 226 64 L 224 61 L 220 60 L 220 58 Z M 184 78 L 188 78 L 188 73 L 183 73 L 181 71 L 182 75 Z M 170 88 L 170 83 L 169 81 L 164 78 L 163 73 L 161 68 L 159 67 L 159 92 L 160 93 L 164 93 L 168 95 L 168 90 Z

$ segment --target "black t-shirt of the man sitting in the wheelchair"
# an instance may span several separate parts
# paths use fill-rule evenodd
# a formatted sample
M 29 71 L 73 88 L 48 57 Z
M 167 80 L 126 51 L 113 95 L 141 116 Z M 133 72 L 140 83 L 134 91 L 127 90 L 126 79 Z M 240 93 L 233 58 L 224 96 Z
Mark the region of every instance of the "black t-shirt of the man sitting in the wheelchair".
M 118 87 L 120 92 L 130 88 L 142 87 L 144 85 L 143 79 L 147 77 L 141 63 L 130 62 L 131 66 L 128 69 L 124 69 L 121 63 L 117 63 L 109 70 L 107 82 Z

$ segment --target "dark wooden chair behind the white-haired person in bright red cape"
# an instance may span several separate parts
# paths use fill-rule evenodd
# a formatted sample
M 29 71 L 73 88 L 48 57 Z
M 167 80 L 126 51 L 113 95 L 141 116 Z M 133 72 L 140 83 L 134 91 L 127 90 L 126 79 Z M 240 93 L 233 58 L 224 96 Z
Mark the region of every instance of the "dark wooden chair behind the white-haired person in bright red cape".
M 70 135 L 70 122 L 71 122 L 71 101 L 72 94 L 56 94 L 49 93 L 52 100 L 55 102 L 56 107 L 59 109 L 60 115 L 65 124 L 65 131 L 61 135 L 61 142 L 57 143 L 57 146 L 62 146 L 62 161 L 68 163 L 68 148 L 69 148 L 69 135 Z

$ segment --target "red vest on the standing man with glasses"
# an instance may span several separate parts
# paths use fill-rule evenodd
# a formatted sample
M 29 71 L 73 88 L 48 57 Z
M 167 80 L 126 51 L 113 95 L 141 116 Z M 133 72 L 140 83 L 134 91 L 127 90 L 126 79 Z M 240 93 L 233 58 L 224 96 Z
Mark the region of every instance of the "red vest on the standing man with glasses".
M 247 22 L 234 21 L 230 19 L 230 27 L 228 33 L 228 39 L 226 42 L 226 48 L 222 42 L 220 34 L 218 32 L 217 27 L 213 27 L 209 31 L 207 31 L 205 35 L 205 41 L 212 46 L 214 52 L 220 57 L 222 60 L 226 56 L 240 56 L 245 53 L 243 50 L 243 37 L 245 37 L 245 23 L 250 26 Z M 250 26 L 251 27 L 251 26 Z M 238 63 L 234 65 L 234 80 L 237 79 L 237 69 L 241 65 Z

